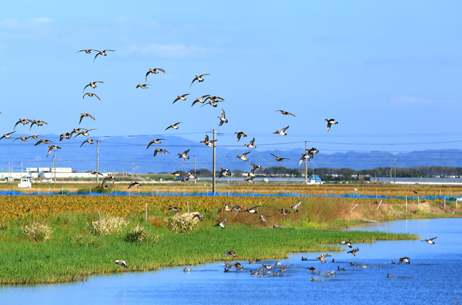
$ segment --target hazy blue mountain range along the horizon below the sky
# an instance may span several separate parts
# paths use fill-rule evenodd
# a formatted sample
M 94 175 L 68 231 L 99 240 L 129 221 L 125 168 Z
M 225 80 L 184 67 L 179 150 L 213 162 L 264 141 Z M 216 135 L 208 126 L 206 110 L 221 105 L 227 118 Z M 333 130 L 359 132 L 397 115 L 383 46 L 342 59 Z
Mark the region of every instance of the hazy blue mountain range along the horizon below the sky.
M 16 138 L 21 134 L 15 134 Z M 59 141 L 56 135 L 45 135 L 55 145 L 62 149 L 56 150 L 56 166 L 72 167 L 74 170 L 94 170 L 96 168 L 97 145 L 89 145 L 86 137 L 78 136 L 70 140 Z M 194 169 L 194 156 L 196 156 L 196 168 L 212 169 L 213 148 L 206 147 L 200 140 L 191 141 L 178 136 L 168 136 L 168 140 L 162 140 L 159 145 L 152 144 L 146 149 L 152 136 L 126 136 L 126 137 L 90 137 L 100 140 L 99 165 L 101 170 L 115 172 L 131 172 L 134 164 L 136 173 L 159 173 L 177 170 L 189 171 Z M 242 141 L 242 140 L 241 140 Z M 247 143 L 246 141 L 245 143 Z M 0 141 L 0 168 L 8 169 L 8 162 L 14 169 L 26 167 L 51 167 L 53 165 L 54 152 L 46 157 L 47 145 L 41 143 L 34 146 L 36 141 L 29 139 L 27 142 L 12 139 Z M 283 166 L 287 168 L 298 168 L 298 162 L 303 150 L 261 150 L 261 149 L 227 149 L 218 146 L 216 149 L 216 168 L 240 169 L 249 171 L 251 163 L 262 167 Z M 80 147 L 82 145 L 82 147 Z M 168 153 L 158 153 L 153 157 L 155 148 L 164 148 Z M 188 160 L 179 158 L 177 154 L 189 149 Z M 236 157 L 245 152 L 250 152 L 248 162 L 244 163 Z M 277 162 L 270 154 L 279 157 L 290 158 L 284 162 Z M 371 169 L 377 167 L 393 167 L 394 154 L 388 152 L 337 152 L 326 154 L 320 151 L 308 163 L 308 168 L 352 168 L 355 170 Z M 425 150 L 409 153 L 396 154 L 397 167 L 413 166 L 449 166 L 462 167 L 462 150 Z M 303 165 L 301 166 L 303 168 Z

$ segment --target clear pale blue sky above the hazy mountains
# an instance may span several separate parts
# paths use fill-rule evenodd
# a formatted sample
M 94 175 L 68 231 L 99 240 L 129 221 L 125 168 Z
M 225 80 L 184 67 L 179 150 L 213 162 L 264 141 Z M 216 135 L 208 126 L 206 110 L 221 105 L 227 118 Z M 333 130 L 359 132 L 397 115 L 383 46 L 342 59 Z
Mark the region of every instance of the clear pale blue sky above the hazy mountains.
M 305 141 L 326 154 L 460 149 L 461 8 L 458 1 L 8 2 L 0 12 L 0 134 L 29 118 L 48 125 L 29 132 L 19 124 L 12 139 L 80 127 L 121 143 L 128 135 L 199 142 L 216 129 L 217 149 L 242 152 L 238 131 L 260 150 L 303 151 Z M 115 52 L 94 59 L 82 49 Z M 166 73 L 145 81 L 149 68 Z M 209 75 L 190 86 L 201 74 Z M 85 89 L 101 100 L 82 98 L 90 81 L 104 81 Z M 207 94 L 225 101 L 191 107 Z M 221 109 L 228 123 L 219 127 Z M 81 113 L 96 120 L 79 125 Z M 329 132 L 326 118 L 338 121 Z M 165 130 L 176 122 L 178 130 Z M 286 136 L 273 134 L 286 126 Z M 0 140 L 0 154 L 12 139 Z M 37 147 L 37 155 L 46 152 Z

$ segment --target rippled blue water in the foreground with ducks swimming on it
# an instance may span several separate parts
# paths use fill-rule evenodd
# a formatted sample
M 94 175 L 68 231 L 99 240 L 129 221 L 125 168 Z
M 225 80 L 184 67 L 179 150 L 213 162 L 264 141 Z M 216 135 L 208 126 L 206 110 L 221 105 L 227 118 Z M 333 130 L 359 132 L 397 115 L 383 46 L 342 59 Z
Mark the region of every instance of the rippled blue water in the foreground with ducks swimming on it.
M 351 230 L 353 228 L 350 228 Z M 361 230 L 413 232 L 422 238 L 437 236 L 435 245 L 421 241 L 386 241 L 354 244 L 357 257 L 331 253 L 325 264 L 319 254 L 293 254 L 282 260 L 286 271 L 279 276 L 252 276 L 259 264 L 241 262 L 244 271 L 224 273 L 222 263 L 165 268 L 158 272 L 92 276 L 86 282 L 3 286 L 0 304 L 452 304 L 462 301 L 462 219 L 396 221 L 358 227 Z M 349 249 L 348 249 L 349 250 Z M 239 255 L 239 253 L 237 253 Z M 301 257 L 309 261 L 301 261 Z M 390 264 L 408 256 L 410 265 Z M 336 263 L 332 263 L 332 258 Z M 351 266 L 367 264 L 368 268 Z M 335 277 L 313 275 L 335 270 Z M 345 271 L 337 271 L 337 266 Z M 279 272 L 279 267 L 275 266 Z M 261 272 L 260 272 L 261 273 Z M 395 278 L 387 278 L 387 273 Z M 320 281 L 312 282 L 311 276 Z

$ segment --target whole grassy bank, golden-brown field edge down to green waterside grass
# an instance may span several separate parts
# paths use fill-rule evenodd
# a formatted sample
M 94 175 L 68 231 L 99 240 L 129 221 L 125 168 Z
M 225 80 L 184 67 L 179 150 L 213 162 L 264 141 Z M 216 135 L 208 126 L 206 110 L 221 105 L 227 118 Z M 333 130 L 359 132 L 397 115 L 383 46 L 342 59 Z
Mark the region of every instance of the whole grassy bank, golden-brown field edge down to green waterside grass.
M 299 213 L 287 218 L 278 212 L 299 200 Z M 168 205 L 182 207 L 205 216 L 192 225 L 189 234 L 168 229 Z M 262 202 L 259 212 L 269 217 L 262 223 L 257 215 L 234 212 L 217 214 L 229 203 L 251 207 Z M 148 219 L 145 222 L 145 203 Z M 359 205 L 350 212 L 357 204 Z M 52 283 L 84 280 L 91 274 L 125 272 L 113 263 L 124 259 L 129 271 L 156 270 L 162 266 L 194 265 L 222 260 L 226 249 L 236 251 L 240 260 L 280 259 L 293 252 L 341 250 L 339 241 L 355 243 L 375 240 L 416 239 L 408 234 L 326 230 L 363 223 L 364 219 L 386 221 L 402 218 L 460 217 L 454 202 L 378 201 L 337 198 L 233 198 L 157 196 L 1 196 L 0 197 L 0 282 Z M 128 224 L 111 235 L 95 232 L 92 221 L 106 215 L 122 217 Z M 453 213 L 455 212 L 455 213 Z M 226 229 L 213 227 L 228 218 Z M 50 240 L 33 242 L 24 234 L 34 222 L 53 231 Z M 274 224 L 287 229 L 273 229 Z M 128 242 L 127 236 L 140 225 L 143 242 Z M 144 234 L 144 235 L 143 235 Z M 225 258 L 230 260 L 232 258 Z

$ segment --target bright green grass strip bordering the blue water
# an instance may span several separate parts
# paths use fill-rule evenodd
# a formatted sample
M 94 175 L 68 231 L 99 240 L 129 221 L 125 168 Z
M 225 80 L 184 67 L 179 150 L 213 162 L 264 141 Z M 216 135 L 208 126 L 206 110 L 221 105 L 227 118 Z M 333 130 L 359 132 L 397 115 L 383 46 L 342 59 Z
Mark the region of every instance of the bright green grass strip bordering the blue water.
M 133 216 L 126 218 L 129 224 L 119 234 L 95 236 L 90 234 L 91 221 L 95 218 L 98 216 L 94 214 L 69 212 L 34 220 L 53 229 L 51 240 L 36 243 L 23 233 L 31 220 L 3 222 L 0 229 L 0 283 L 69 282 L 85 280 L 92 274 L 125 272 L 114 264 L 115 259 L 125 260 L 129 271 L 149 271 L 165 266 L 221 261 L 227 249 L 235 250 L 240 260 L 281 259 L 297 252 L 338 251 L 341 250 L 339 242 L 346 239 L 360 243 L 418 238 L 383 232 L 272 229 L 228 225 L 229 222 L 222 230 L 213 227 L 211 215 L 208 220 L 199 222 L 190 234 L 176 234 L 156 221 L 145 223 L 143 217 Z M 145 228 L 143 232 L 148 237 L 158 238 L 127 242 L 127 233 L 138 224 Z

